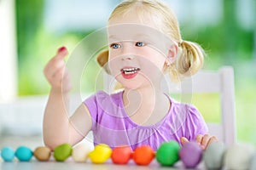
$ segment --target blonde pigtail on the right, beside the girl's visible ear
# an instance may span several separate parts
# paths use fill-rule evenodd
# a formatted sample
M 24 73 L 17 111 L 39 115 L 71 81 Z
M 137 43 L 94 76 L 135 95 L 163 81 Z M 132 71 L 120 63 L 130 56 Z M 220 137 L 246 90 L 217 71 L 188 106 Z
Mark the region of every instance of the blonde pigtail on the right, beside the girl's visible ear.
M 179 46 L 182 51 L 175 62 L 177 74 L 184 77 L 192 76 L 201 69 L 204 63 L 204 51 L 195 42 L 182 41 Z

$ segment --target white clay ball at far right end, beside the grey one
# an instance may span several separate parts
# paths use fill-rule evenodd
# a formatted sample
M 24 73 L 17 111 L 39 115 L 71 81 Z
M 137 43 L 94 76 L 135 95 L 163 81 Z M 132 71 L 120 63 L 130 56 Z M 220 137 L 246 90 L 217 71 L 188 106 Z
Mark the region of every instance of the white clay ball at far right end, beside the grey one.
M 254 154 L 251 144 L 232 144 L 224 154 L 224 167 L 226 169 L 249 169 Z

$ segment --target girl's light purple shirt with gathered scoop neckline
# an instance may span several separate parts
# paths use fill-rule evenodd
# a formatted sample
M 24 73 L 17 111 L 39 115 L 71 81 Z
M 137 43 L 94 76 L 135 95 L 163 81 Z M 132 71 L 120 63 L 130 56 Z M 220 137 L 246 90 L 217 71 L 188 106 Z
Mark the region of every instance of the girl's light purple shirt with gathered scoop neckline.
M 161 143 L 186 137 L 195 140 L 197 134 L 207 133 L 207 124 L 194 105 L 181 104 L 170 99 L 172 105 L 166 116 L 152 126 L 141 126 L 132 122 L 123 104 L 123 92 L 106 94 L 103 91 L 84 100 L 92 118 L 91 130 L 94 144 L 110 147 L 147 144 L 157 150 Z

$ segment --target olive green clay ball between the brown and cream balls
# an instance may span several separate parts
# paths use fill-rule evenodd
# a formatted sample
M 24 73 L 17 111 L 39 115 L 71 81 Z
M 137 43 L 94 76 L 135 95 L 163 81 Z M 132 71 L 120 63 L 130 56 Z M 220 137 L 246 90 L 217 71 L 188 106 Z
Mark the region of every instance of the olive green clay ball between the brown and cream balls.
M 66 161 L 69 156 L 72 154 L 72 145 L 71 144 L 60 144 L 55 147 L 54 157 L 56 161 Z

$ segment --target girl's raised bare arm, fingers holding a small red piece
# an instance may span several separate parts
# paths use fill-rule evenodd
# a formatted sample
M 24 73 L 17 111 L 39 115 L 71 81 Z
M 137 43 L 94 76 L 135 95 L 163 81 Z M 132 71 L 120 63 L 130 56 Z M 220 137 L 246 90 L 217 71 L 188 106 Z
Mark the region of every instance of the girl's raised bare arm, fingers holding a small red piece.
M 84 104 L 79 106 L 73 116 L 68 117 L 68 94 L 71 86 L 65 71 L 66 55 L 67 49 L 60 48 L 44 68 L 44 76 L 51 85 L 51 89 L 44 111 L 43 135 L 44 144 L 51 150 L 59 144 L 78 143 L 91 127 L 90 114 Z

